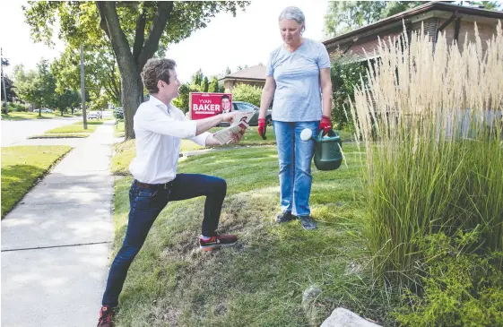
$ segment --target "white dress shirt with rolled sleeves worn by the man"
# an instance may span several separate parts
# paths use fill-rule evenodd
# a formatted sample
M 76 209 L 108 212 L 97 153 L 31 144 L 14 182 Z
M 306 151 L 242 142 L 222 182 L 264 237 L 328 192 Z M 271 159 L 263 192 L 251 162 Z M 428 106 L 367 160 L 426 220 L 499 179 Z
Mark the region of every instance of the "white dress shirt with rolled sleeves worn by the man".
M 195 136 L 195 121 L 188 120 L 183 112 L 159 99 L 150 96 L 134 115 L 136 134 L 136 158 L 131 161 L 129 171 L 142 183 L 163 184 L 177 176 L 181 139 L 190 139 L 206 145 L 211 133 Z

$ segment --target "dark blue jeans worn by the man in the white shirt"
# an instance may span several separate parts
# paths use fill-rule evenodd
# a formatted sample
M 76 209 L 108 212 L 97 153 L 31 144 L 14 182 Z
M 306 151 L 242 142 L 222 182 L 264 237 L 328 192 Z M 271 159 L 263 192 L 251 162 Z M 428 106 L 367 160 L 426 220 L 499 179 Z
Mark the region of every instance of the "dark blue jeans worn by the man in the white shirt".
M 205 175 L 178 174 L 166 188 L 142 188 L 131 185 L 129 190 L 129 220 L 126 237 L 119 252 L 112 262 L 108 274 L 107 288 L 102 305 L 115 307 L 122 291 L 127 270 L 134 257 L 142 248 L 153 222 L 169 201 L 178 201 L 206 196 L 204 202 L 203 235 L 215 236 L 218 227 L 221 204 L 227 192 L 225 180 Z

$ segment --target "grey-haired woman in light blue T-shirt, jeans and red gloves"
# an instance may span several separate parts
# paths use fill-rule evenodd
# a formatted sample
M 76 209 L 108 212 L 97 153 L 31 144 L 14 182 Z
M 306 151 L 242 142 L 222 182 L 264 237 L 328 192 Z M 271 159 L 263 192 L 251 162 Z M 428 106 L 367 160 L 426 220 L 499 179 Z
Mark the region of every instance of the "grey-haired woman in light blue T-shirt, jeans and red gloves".
M 266 65 L 258 133 L 265 138 L 265 112 L 273 102 L 273 126 L 280 161 L 282 212 L 276 221 L 299 217 L 302 227 L 316 228 L 309 217 L 311 159 L 314 142 L 300 140 L 305 128 L 313 135 L 332 129 L 332 82 L 330 58 L 325 46 L 302 38 L 305 17 L 297 7 L 288 7 L 279 18 L 284 44 L 273 50 Z

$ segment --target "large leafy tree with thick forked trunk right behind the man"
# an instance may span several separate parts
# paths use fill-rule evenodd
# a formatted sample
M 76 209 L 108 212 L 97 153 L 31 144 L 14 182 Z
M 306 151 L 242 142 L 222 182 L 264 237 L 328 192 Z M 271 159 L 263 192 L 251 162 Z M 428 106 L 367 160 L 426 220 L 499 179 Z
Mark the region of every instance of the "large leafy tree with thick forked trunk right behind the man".
M 216 13 L 236 14 L 249 2 L 35 2 L 23 7 L 32 38 L 51 42 L 59 20 L 60 39 L 74 48 L 111 43 L 121 75 L 126 139 L 134 138 L 133 116 L 143 101 L 140 73 L 148 59 L 163 55 L 170 43 L 206 27 Z M 100 24 L 96 23 L 100 22 Z

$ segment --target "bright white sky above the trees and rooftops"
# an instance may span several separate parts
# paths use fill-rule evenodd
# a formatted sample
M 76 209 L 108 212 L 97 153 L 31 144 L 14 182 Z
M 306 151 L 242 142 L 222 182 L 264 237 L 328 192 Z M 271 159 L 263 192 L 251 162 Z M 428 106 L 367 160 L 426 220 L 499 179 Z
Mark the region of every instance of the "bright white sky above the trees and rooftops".
M 177 62 L 181 82 L 188 82 L 200 68 L 204 75 L 211 76 L 225 72 L 228 66 L 234 72 L 238 65 L 265 64 L 271 51 L 282 44 L 278 16 L 284 8 L 298 6 L 306 16 L 303 36 L 323 40 L 327 3 L 325 0 L 256 0 L 236 17 L 230 13 L 218 13 L 206 28 L 171 45 L 166 56 Z M 11 63 L 5 70 L 7 74 L 12 73 L 13 65 L 18 64 L 33 69 L 42 57 L 52 60 L 64 49 L 64 44 L 56 38 L 54 48 L 35 44 L 30 39 L 30 27 L 24 22 L 22 4 L 26 1 L 2 2 L 0 47 Z

